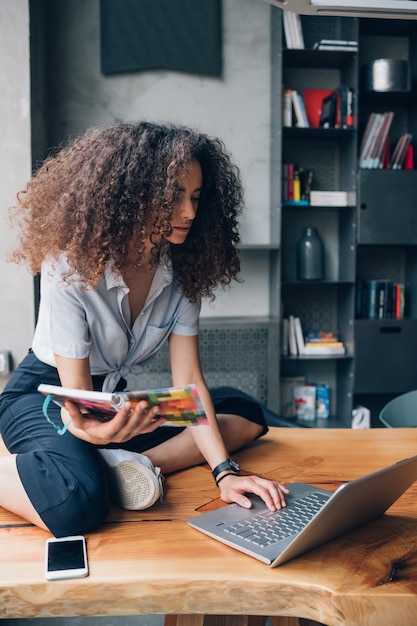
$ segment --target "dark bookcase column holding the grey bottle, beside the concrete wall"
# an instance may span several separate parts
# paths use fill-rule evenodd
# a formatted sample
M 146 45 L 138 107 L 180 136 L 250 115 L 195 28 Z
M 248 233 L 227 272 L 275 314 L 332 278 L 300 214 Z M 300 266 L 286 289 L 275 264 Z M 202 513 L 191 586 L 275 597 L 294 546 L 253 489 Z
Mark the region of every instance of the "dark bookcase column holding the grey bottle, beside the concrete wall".
M 275 18 L 280 19 L 279 12 Z M 354 19 L 302 16 L 304 49 L 287 49 L 281 39 L 280 54 L 273 59 L 282 68 L 282 89 L 323 90 L 330 93 L 340 85 L 357 89 L 357 54 L 346 50 L 313 50 L 320 39 L 357 40 Z M 278 35 L 279 25 L 275 26 Z M 281 90 L 280 85 L 280 90 Z M 311 92 L 310 92 L 311 93 Z M 282 94 L 280 94 L 282 95 Z M 279 99 L 277 96 L 277 100 Z M 274 104 L 273 104 L 274 105 Z M 276 111 L 276 107 L 274 107 Z M 274 142 L 273 142 L 274 143 Z M 326 382 L 330 388 L 330 418 L 307 426 L 350 426 L 354 376 L 354 302 L 356 240 L 357 130 L 295 125 L 283 127 L 275 149 L 281 163 L 297 164 L 314 172 L 313 187 L 326 192 L 349 192 L 342 206 L 282 202 L 281 206 L 281 315 L 300 318 L 304 333 L 332 330 L 343 340 L 345 354 L 281 355 L 281 392 L 291 379 L 307 383 Z M 278 176 L 277 176 L 278 177 Z M 279 181 L 281 198 L 285 180 Z M 307 227 L 317 229 L 324 245 L 324 276 L 320 281 L 297 278 L 297 241 Z M 281 346 L 282 348 L 282 346 Z M 283 407 L 284 409 L 284 407 Z

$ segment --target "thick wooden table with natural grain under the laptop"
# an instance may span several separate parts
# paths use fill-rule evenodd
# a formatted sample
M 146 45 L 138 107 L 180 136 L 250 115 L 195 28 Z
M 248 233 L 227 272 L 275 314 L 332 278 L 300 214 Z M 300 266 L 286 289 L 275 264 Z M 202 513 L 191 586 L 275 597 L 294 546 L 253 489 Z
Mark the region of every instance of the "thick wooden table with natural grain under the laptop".
M 274 428 L 245 470 L 328 489 L 415 454 L 415 429 Z M 271 569 L 190 528 L 222 506 L 207 466 L 169 476 L 164 504 L 114 509 L 87 536 L 90 575 L 47 582 L 48 533 L 0 509 L 0 618 L 165 614 L 166 625 L 414 626 L 417 483 L 382 518 Z M 229 618 L 221 616 L 231 616 Z M 253 616 L 253 617 L 247 617 Z M 257 617 L 259 616 L 259 617 Z

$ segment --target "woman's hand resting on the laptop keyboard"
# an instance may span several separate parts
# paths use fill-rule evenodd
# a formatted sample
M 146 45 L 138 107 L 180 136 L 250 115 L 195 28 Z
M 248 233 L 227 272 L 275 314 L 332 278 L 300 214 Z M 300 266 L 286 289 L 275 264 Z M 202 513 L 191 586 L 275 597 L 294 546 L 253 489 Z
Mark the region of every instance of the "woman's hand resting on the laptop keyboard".
M 284 508 L 286 506 L 285 494 L 289 493 L 289 489 L 284 485 L 256 475 L 228 474 L 222 478 L 219 489 L 220 497 L 224 502 L 236 502 L 246 509 L 251 508 L 252 502 L 245 494 L 254 493 L 262 498 L 270 511 Z

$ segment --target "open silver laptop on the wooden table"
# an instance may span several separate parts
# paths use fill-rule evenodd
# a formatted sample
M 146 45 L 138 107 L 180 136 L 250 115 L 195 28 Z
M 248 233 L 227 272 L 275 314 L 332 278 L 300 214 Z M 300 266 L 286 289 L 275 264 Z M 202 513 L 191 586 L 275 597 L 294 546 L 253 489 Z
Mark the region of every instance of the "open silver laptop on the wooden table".
M 417 456 L 347 482 L 335 492 L 291 483 L 286 508 L 274 513 L 251 496 L 249 510 L 229 504 L 188 524 L 276 567 L 379 517 L 415 480 Z

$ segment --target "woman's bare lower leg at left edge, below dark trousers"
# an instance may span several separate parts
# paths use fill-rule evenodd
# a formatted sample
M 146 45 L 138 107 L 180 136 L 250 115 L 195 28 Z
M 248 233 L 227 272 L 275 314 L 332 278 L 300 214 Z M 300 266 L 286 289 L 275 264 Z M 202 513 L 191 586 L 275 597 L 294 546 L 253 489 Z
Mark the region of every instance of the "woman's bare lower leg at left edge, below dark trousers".
M 16 455 L 0 458 L 0 506 L 48 530 L 23 488 L 16 466 Z

